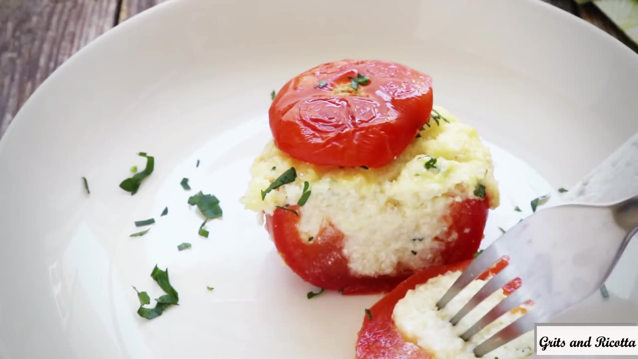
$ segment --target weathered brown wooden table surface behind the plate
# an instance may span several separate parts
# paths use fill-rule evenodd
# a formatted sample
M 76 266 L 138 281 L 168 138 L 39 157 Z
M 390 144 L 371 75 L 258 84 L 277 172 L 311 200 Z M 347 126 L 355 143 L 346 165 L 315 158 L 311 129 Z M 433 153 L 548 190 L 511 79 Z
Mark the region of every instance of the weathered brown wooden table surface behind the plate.
M 162 1 L 0 0 L 0 135 L 64 60 L 96 36 Z M 595 5 L 543 1 L 591 22 L 638 52 L 638 46 Z

